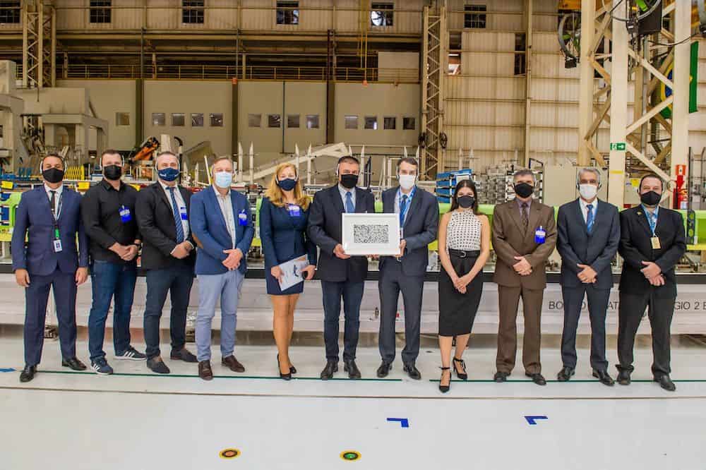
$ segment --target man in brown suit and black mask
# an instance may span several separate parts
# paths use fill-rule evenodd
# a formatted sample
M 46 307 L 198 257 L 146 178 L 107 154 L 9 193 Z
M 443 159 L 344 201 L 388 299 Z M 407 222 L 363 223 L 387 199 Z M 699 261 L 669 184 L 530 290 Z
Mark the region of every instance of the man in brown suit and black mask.
M 517 171 L 515 200 L 497 205 L 493 212 L 493 249 L 498 257 L 493 281 L 498 284 L 500 299 L 496 382 L 505 382 L 515 367 L 517 306 L 521 296 L 525 374 L 537 385 L 546 385 L 539 362 L 539 318 L 546 287 L 546 260 L 556 244 L 556 223 L 554 207 L 532 200 L 536 182 L 532 171 Z

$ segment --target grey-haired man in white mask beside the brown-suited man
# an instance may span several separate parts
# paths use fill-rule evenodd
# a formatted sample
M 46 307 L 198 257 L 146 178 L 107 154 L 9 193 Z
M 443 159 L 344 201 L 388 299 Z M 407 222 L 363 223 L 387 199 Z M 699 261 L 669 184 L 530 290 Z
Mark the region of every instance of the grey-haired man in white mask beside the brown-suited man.
M 606 311 L 613 287 L 611 260 L 620 241 L 618 208 L 598 200 L 601 174 L 597 169 L 579 171 L 580 198 L 559 207 L 556 248 L 561 255 L 561 294 L 564 328 L 561 335 L 559 382 L 570 380 L 576 368 L 576 330 L 583 299 L 587 296 L 591 318 L 591 367 L 604 385 L 615 384 L 606 360 Z

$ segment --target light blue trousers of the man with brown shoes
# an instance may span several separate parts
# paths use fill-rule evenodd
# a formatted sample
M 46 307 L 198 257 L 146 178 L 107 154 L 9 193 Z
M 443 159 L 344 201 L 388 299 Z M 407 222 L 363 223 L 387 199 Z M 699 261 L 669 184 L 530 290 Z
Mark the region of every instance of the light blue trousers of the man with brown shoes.
M 211 358 L 211 322 L 216 303 L 221 304 L 221 355 L 233 355 L 238 297 L 244 275 L 239 270 L 220 275 L 198 275 L 198 313 L 196 314 L 196 357 L 198 361 Z

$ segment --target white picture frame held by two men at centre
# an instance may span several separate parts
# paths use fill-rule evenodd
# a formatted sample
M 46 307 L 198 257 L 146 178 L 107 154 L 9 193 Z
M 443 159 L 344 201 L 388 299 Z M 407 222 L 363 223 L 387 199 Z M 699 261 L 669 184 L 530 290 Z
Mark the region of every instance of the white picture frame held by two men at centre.
M 341 245 L 347 255 L 399 254 L 400 215 L 343 214 Z

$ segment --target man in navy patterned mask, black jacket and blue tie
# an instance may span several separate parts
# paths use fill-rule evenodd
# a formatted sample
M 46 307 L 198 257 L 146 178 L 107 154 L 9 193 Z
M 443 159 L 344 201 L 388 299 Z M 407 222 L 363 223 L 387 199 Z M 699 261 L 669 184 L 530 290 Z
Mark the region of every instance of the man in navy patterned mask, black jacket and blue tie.
M 169 368 L 160 356 L 160 318 L 168 293 L 172 300 L 169 358 L 196 362 L 196 356 L 184 347 L 196 243 L 189 229 L 191 193 L 177 184 L 179 159 L 172 152 L 162 152 L 155 159 L 155 169 L 159 181 L 138 193 L 135 210 L 143 240 L 142 267 L 147 271 L 147 366 L 152 372 L 168 374 Z

